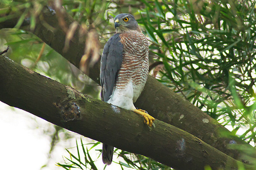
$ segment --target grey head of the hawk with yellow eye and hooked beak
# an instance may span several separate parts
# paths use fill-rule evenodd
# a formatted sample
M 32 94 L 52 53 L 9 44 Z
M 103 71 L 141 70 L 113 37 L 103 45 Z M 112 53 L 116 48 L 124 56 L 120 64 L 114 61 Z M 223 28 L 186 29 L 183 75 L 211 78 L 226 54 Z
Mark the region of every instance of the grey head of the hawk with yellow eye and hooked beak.
M 129 30 L 140 31 L 137 21 L 132 14 L 118 14 L 114 18 L 116 32 L 125 32 Z

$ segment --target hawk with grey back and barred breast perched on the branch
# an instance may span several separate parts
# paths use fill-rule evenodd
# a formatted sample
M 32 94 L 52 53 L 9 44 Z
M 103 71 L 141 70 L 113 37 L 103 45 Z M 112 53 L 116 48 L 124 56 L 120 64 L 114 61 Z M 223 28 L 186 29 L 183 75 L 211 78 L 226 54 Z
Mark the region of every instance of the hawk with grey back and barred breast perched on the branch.
M 154 118 L 134 107 L 148 77 L 148 41 L 131 14 L 114 18 L 116 34 L 105 44 L 100 68 L 101 98 L 120 108 L 134 111 L 152 126 Z M 103 144 L 102 160 L 111 164 L 113 147 Z

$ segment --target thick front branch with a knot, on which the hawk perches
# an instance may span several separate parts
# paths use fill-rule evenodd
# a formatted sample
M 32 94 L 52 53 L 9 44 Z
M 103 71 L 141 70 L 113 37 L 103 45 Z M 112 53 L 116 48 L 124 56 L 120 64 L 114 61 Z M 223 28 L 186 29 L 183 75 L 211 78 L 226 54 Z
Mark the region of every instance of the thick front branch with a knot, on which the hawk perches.
M 155 120 L 150 129 L 136 113 L 81 94 L 3 56 L 0 89 L 0 100 L 10 106 L 176 169 L 204 170 L 209 165 L 212 170 L 237 170 L 242 164 L 177 127 Z

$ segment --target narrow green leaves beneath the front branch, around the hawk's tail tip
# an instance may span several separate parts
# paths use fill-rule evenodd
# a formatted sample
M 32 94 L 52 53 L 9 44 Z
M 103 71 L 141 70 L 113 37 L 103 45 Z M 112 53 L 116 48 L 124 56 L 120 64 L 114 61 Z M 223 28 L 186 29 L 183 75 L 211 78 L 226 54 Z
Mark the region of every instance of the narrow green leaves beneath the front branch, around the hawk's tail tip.
M 81 170 L 85 169 L 91 169 L 91 170 L 97 170 L 96 165 L 94 162 L 98 159 L 101 159 L 101 152 L 102 150 L 93 150 L 97 145 L 101 145 L 101 142 L 95 142 L 95 143 L 89 143 L 89 144 L 83 144 L 82 139 L 80 140 L 81 146 L 78 145 L 76 141 L 76 149 L 77 149 L 77 156 L 75 154 L 70 153 L 69 150 L 67 152 L 70 155 L 70 158 L 65 157 L 66 161 L 65 164 L 58 163 L 58 166 L 63 167 L 66 170 L 70 170 L 71 168 L 79 168 Z M 85 145 L 91 147 L 88 149 L 88 147 L 85 147 Z M 79 151 L 82 150 L 82 153 Z M 97 159 L 93 160 L 90 156 L 90 153 L 95 154 L 98 152 Z M 116 164 L 119 164 L 121 169 L 139 169 L 139 170 L 172 170 L 172 168 L 160 164 L 157 161 L 154 161 L 150 158 L 147 158 L 145 156 L 133 154 L 126 152 L 124 150 L 114 150 L 114 154 L 118 155 L 118 157 L 121 157 L 123 161 L 115 162 Z M 107 165 L 105 165 L 104 169 Z

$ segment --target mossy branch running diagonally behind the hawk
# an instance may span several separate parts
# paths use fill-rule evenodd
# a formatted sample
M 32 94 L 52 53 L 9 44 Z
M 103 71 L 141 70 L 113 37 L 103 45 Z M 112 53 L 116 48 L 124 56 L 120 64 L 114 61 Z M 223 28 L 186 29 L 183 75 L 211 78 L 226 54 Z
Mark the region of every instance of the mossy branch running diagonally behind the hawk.
M 79 28 L 70 41 L 69 50 L 63 52 L 66 34 L 58 25 L 58 17 L 51 10 L 45 8 L 39 18 L 41 20 L 38 20 L 35 30 L 32 31 L 33 34 L 41 38 L 76 67 L 79 67 L 79 61 L 84 53 L 84 41 L 79 41 Z M 75 22 L 68 14 L 65 14 L 64 18 L 67 26 Z M 1 25 L 0 28 L 4 28 L 4 23 Z M 10 27 L 10 24 L 8 27 Z M 25 27 L 23 29 L 29 31 Z M 93 68 L 90 68 L 88 76 L 99 83 L 99 62 Z M 255 148 L 230 133 L 215 119 L 212 119 L 151 76 L 148 77 L 144 91 L 135 105 L 148 111 L 155 118 L 197 136 L 235 159 L 249 160 L 249 157 L 256 158 Z M 229 144 L 233 143 L 244 144 L 250 152 L 244 153 L 244 149 L 241 148 L 240 150 L 229 149 Z

